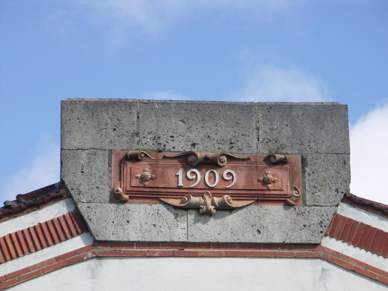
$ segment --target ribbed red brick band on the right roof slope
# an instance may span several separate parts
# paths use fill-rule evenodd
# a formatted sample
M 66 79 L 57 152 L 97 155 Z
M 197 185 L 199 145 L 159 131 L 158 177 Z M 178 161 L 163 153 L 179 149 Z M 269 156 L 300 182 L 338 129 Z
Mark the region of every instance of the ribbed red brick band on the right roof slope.
M 336 214 L 326 234 L 385 258 L 388 257 L 388 232 L 376 227 Z

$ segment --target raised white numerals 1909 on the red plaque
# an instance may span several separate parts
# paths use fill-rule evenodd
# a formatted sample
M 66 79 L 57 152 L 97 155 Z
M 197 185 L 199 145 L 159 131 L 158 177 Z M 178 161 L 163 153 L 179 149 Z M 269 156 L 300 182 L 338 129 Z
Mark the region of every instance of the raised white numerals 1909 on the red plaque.
M 211 172 L 214 173 L 214 177 L 215 177 L 214 183 L 209 182 L 209 174 Z M 192 173 L 195 173 L 195 175 L 192 175 Z M 180 169 L 178 171 L 178 173 L 175 174 L 175 176 L 178 176 L 178 187 L 183 187 L 183 180 L 182 180 L 183 169 Z M 201 180 L 201 173 L 199 173 L 199 171 L 197 169 L 194 169 L 194 168 L 189 169 L 186 173 L 186 176 L 190 180 L 194 180 L 196 178 L 195 183 L 193 185 L 190 185 L 189 188 L 195 187 L 196 185 L 198 185 L 199 181 Z M 229 169 L 225 170 L 224 173 L 222 174 L 222 178 L 226 179 L 227 181 L 232 179 L 232 183 L 227 185 L 225 188 L 230 188 L 234 184 L 236 184 L 236 182 L 237 182 L 237 174 L 233 170 L 229 170 Z M 220 181 L 220 176 L 218 175 L 218 172 L 216 170 L 209 169 L 208 171 L 206 171 L 206 173 L 205 173 L 205 184 L 206 185 L 208 185 L 211 188 L 214 188 L 215 186 L 217 186 L 219 181 Z

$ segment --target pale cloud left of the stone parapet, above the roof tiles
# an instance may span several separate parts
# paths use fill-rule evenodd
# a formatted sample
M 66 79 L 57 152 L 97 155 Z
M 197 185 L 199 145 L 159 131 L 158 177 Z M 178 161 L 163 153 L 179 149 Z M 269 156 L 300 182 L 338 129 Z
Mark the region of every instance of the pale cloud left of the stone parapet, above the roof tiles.
M 0 181 L 0 201 L 15 200 L 25 194 L 60 180 L 60 146 L 45 137 L 39 140 L 34 153 L 8 177 Z

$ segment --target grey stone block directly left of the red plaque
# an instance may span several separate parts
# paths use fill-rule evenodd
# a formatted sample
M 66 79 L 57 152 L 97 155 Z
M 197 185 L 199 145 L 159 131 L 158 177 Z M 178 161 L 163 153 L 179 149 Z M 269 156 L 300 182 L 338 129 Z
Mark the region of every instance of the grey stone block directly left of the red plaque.
M 109 202 L 109 151 L 61 150 L 61 180 L 76 202 Z

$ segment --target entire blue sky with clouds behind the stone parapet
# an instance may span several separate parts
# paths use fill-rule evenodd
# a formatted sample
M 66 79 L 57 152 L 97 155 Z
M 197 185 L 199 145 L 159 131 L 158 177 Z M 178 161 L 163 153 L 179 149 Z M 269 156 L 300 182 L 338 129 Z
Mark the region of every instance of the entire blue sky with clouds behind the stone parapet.
M 351 192 L 388 204 L 387 32 L 385 0 L 1 0 L 0 201 L 59 181 L 60 100 L 104 97 L 347 104 Z

